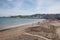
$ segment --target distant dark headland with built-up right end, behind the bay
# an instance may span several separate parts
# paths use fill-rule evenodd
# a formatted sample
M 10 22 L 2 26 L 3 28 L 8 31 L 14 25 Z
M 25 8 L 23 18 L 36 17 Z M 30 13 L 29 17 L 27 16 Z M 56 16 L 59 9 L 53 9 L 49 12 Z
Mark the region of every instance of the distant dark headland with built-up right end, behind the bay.
M 34 14 L 34 15 L 18 15 L 10 16 L 10 18 L 40 18 L 40 19 L 60 19 L 60 14 Z

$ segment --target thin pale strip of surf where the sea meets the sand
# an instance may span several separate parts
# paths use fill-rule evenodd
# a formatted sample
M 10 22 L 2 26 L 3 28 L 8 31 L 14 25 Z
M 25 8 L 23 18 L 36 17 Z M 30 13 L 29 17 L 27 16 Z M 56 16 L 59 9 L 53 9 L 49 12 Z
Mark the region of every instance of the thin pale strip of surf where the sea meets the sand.
M 7 26 L 7 27 L 4 27 L 4 28 L 2 28 L 2 29 L 0 29 L 0 31 L 1 30 L 6 30 L 6 29 L 11 29 L 11 28 L 16 28 L 16 27 L 19 27 L 19 26 L 25 26 L 25 25 L 33 25 L 33 24 L 36 24 L 36 23 L 38 23 L 38 22 L 42 22 L 42 21 L 44 21 L 45 19 L 42 19 L 42 20 L 38 20 L 38 21 L 36 21 L 36 22 L 27 22 L 27 23 L 23 23 L 23 24 L 18 24 L 18 25 L 12 25 L 12 26 Z

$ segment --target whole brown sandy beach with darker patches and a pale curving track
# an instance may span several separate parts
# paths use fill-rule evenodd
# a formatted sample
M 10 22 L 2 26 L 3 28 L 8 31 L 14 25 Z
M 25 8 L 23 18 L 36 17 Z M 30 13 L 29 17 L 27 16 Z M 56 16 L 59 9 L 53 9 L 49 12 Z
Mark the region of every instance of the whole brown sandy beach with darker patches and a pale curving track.
M 59 24 L 59 20 L 44 20 L 39 23 L 0 30 L 0 40 L 59 40 L 60 29 L 57 30 L 60 28 Z

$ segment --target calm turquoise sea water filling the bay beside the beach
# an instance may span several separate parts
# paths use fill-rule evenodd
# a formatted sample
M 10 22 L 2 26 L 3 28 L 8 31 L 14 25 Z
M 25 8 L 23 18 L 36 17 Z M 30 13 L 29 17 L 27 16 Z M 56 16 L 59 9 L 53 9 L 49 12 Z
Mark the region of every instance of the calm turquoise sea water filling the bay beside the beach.
M 4 29 L 18 24 L 33 23 L 42 20 L 43 19 L 0 18 L 0 29 Z

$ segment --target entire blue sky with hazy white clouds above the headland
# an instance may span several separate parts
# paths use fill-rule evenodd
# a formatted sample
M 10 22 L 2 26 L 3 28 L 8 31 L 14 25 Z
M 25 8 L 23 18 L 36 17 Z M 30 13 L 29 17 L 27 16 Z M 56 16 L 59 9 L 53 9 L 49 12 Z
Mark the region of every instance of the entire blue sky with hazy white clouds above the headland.
M 60 0 L 0 0 L 0 16 L 58 13 Z

